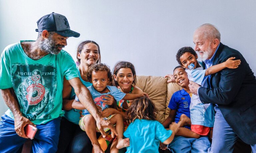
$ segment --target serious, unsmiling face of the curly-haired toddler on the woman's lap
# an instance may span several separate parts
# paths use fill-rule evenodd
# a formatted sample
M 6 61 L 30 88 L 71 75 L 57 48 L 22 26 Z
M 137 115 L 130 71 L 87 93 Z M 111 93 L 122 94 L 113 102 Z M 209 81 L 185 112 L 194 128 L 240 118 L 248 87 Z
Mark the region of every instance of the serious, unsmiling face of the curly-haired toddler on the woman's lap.
M 107 71 L 93 71 L 92 72 L 92 85 L 100 93 L 105 93 L 107 90 L 106 86 L 109 82 Z

